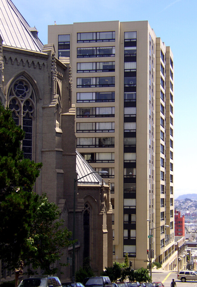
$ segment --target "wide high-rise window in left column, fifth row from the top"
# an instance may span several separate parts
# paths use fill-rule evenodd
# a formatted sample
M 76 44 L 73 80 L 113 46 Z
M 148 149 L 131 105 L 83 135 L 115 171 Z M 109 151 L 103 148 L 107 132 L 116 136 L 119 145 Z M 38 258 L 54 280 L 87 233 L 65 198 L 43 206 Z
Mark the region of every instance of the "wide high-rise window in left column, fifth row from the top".
M 114 102 L 115 92 L 77 93 L 77 103 Z

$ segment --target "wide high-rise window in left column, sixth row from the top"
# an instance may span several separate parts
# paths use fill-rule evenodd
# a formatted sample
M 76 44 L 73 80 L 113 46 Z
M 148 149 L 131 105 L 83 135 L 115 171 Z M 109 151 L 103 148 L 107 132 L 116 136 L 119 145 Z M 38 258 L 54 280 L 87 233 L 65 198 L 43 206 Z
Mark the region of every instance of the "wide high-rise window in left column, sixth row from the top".
M 114 117 L 115 107 L 77 108 L 77 117 Z

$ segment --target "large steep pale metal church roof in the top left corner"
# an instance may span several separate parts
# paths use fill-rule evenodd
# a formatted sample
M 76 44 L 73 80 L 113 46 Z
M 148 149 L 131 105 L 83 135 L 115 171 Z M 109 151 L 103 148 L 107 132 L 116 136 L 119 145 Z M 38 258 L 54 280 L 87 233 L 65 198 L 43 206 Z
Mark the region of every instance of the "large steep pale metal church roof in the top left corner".
M 35 39 L 30 26 L 11 0 L 0 0 L 0 35 L 3 45 L 41 52 L 43 44 Z

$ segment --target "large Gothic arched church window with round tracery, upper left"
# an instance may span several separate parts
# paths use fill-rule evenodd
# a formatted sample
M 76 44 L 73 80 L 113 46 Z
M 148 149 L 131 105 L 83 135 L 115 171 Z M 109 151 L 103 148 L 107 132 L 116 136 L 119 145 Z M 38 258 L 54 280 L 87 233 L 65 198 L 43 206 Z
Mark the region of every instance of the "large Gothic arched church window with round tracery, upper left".
M 9 89 L 8 107 L 17 125 L 25 131 L 22 140 L 24 158 L 32 160 L 33 134 L 35 127 L 35 93 L 31 84 L 23 77 L 16 80 Z

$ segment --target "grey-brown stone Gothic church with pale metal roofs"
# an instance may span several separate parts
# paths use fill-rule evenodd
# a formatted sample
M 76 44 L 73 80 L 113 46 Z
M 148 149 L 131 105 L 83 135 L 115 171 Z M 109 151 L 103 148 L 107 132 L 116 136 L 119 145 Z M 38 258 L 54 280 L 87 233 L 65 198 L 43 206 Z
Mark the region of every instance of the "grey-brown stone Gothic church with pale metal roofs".
M 0 101 L 25 130 L 25 158 L 43 164 L 35 192 L 47 193 L 71 231 L 74 179 L 83 177 L 75 199 L 75 265 L 78 270 L 89 257 L 95 275 L 100 275 L 105 266 L 112 266 L 110 184 L 75 150 L 71 67 L 56 58 L 53 44 L 42 44 L 37 29 L 28 25 L 11 0 L 0 0 L 0 6 Z M 65 250 L 62 262 L 71 257 L 72 247 Z M 12 277 L 3 268 L 3 258 L 0 269 L 0 282 Z M 59 265 L 58 276 L 70 281 L 72 264 Z

